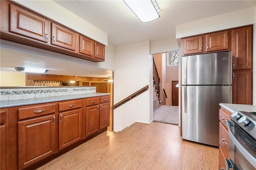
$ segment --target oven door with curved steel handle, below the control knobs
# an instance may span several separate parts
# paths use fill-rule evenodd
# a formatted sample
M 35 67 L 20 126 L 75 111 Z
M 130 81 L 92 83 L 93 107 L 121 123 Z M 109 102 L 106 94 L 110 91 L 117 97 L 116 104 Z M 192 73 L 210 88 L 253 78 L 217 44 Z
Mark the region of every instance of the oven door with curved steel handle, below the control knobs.
M 230 138 L 229 160 L 226 161 L 226 169 L 256 170 L 255 139 L 232 121 L 226 121 L 226 124 Z

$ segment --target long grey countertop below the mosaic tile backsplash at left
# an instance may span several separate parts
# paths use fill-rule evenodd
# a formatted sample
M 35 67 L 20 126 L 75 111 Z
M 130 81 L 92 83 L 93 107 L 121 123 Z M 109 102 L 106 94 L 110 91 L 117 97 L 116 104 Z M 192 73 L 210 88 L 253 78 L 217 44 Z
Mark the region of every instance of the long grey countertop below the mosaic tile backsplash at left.
M 88 93 L 88 94 L 82 94 L 82 95 L 66 95 L 66 96 L 42 97 L 42 98 L 34 98 L 34 99 L 9 100 L 9 101 L 1 101 L 0 108 L 2 109 L 7 107 L 35 105 L 35 104 L 41 104 L 41 103 L 50 103 L 50 102 L 73 100 L 73 99 L 83 99 L 88 97 L 99 97 L 99 96 L 105 96 L 105 95 L 110 95 L 110 93 Z

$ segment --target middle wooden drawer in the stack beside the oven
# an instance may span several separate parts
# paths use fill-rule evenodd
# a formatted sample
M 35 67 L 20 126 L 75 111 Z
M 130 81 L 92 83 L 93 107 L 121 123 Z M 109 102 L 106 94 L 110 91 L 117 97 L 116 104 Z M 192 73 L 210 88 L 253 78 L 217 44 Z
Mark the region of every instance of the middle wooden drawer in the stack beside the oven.
M 220 136 L 219 136 L 219 143 L 220 148 L 222 149 L 224 156 L 228 158 L 229 154 L 229 134 L 228 130 L 224 127 L 222 123 L 219 124 L 220 129 Z

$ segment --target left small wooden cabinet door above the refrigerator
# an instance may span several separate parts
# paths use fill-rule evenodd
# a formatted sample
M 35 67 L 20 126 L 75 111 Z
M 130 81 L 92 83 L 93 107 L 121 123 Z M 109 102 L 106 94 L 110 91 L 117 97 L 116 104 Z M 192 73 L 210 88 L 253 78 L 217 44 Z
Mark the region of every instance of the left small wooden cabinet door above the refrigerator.
M 183 54 L 202 53 L 203 36 L 195 36 L 183 39 Z

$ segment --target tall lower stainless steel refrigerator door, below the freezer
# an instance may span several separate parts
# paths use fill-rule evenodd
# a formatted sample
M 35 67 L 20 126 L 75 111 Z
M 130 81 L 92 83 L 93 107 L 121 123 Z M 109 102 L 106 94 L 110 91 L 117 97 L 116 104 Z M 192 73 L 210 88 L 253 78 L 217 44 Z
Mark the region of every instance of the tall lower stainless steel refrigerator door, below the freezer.
M 182 86 L 182 138 L 219 146 L 219 103 L 232 103 L 232 86 Z

